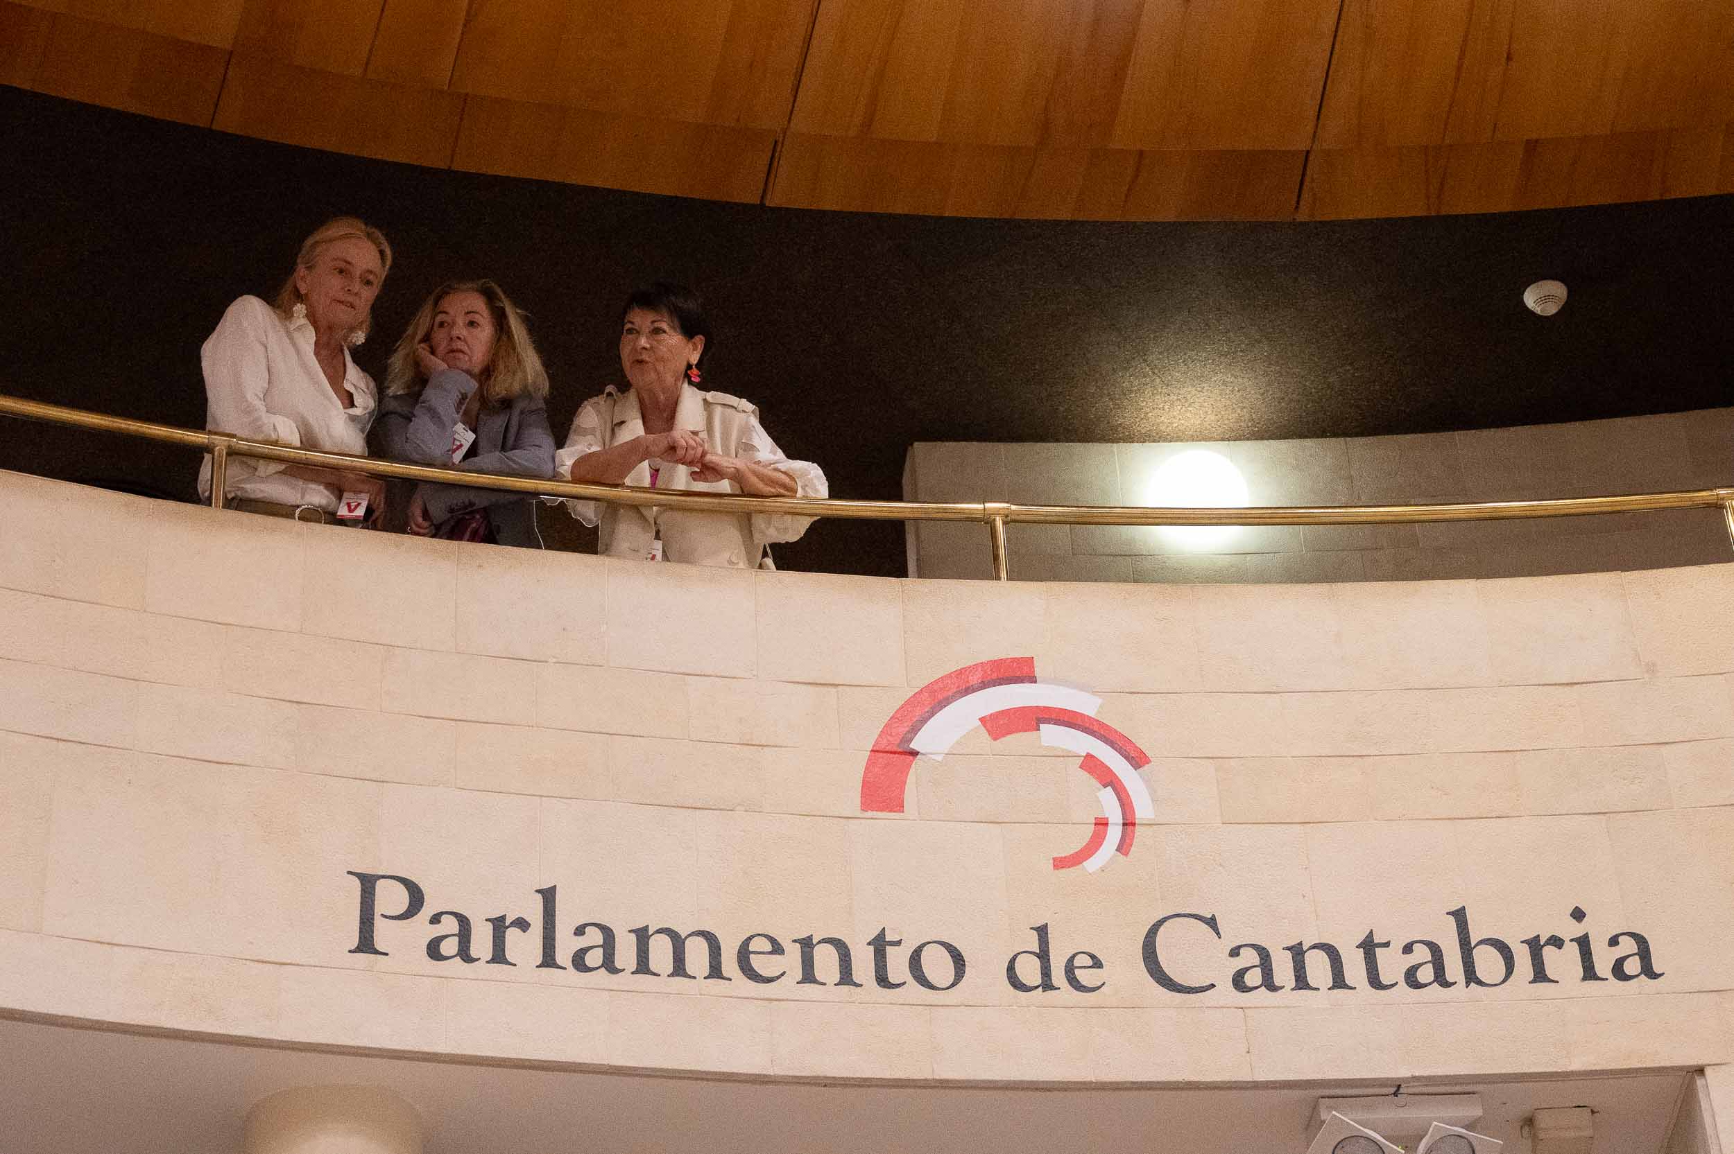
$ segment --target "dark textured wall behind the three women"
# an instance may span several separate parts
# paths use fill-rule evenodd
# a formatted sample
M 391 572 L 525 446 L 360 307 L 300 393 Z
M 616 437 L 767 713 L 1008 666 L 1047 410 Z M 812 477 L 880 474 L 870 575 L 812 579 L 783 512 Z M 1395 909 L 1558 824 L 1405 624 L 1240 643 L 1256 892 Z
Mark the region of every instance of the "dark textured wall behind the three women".
M 1242 440 L 1724 405 L 1734 198 L 1342 224 L 1066 224 L 770 210 L 423 170 L 0 87 L 0 390 L 203 423 L 198 347 L 357 213 L 397 265 L 361 364 L 423 293 L 491 276 L 532 314 L 557 433 L 617 381 L 626 289 L 701 288 L 706 385 L 758 402 L 832 492 L 896 497 L 916 440 Z M 1571 286 L 1552 319 L 1540 277 Z M 189 454 L 7 425 L 0 466 L 192 490 Z M 891 523 L 796 568 L 900 574 Z

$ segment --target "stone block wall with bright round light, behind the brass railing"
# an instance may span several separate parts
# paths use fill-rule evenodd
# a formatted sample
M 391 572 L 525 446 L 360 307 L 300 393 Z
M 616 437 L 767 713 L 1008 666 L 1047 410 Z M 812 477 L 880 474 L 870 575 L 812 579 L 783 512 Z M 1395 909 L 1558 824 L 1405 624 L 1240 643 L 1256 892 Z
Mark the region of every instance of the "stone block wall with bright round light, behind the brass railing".
M 1209 449 L 1248 504 L 1526 501 L 1734 483 L 1734 409 L 1521 428 L 1210 444 L 916 444 L 907 501 L 1155 504 L 1150 478 Z M 1441 580 L 1710 565 L 1731 560 L 1715 509 L 1437 525 L 1271 525 L 1214 549 L 1139 527 L 1013 525 L 1016 580 Z M 987 530 L 910 523 L 910 575 L 992 577 Z

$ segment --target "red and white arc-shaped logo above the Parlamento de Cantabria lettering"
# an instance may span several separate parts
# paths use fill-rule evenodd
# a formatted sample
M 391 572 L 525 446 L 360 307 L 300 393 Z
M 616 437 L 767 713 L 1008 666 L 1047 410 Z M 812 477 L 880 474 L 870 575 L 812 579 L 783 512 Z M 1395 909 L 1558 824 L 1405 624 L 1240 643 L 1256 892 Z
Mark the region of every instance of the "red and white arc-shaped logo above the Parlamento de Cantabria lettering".
M 978 724 L 995 742 L 1013 733 L 1037 733 L 1042 745 L 1082 755 L 1079 768 L 1101 785 L 1103 816 L 1089 840 L 1054 858 L 1056 870 L 1084 866 L 1091 873 L 1118 853 L 1132 853 L 1138 820 L 1155 820 L 1150 788 L 1139 769 L 1144 750 L 1124 733 L 1096 721 L 1101 698 L 1035 679 L 1033 657 L 1002 657 L 964 665 L 916 690 L 879 729 L 862 773 L 862 813 L 903 813 L 909 771 L 917 757 L 943 761 Z

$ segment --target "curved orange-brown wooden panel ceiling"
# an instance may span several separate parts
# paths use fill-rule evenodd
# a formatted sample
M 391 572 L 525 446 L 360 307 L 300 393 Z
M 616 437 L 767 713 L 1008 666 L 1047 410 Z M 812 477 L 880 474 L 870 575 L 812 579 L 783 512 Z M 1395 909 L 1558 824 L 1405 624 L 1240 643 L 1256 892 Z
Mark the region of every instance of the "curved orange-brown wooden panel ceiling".
M 0 0 L 0 81 L 794 208 L 1325 220 L 1734 192 L 1734 0 Z

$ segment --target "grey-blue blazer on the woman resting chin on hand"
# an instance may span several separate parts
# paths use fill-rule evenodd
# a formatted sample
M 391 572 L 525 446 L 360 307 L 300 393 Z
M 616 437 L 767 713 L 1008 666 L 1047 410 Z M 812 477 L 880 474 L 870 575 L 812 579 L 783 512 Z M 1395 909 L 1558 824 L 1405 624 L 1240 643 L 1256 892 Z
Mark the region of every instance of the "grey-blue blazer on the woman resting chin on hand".
M 373 426 L 381 456 L 413 464 L 451 466 L 451 430 L 477 383 L 461 369 L 435 373 L 420 393 L 401 393 L 380 402 L 380 419 Z M 548 409 L 529 393 L 510 404 L 482 409 L 475 418 L 475 454 L 451 466 L 472 473 L 506 477 L 553 477 L 553 430 Z M 435 535 L 444 535 L 451 518 L 472 509 L 487 509 L 499 544 L 539 549 L 534 497 L 498 489 L 463 489 L 392 482 L 385 501 L 387 528 L 402 530 L 409 520 L 409 497 L 421 494 Z

